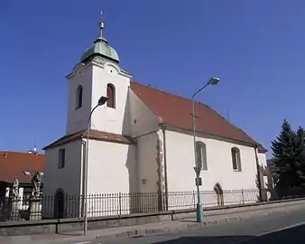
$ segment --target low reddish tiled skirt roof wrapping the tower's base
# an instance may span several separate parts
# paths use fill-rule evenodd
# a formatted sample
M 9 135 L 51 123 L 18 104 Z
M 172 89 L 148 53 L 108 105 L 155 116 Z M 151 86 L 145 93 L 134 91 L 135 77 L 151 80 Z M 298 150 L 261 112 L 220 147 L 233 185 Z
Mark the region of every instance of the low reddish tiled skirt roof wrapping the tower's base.
M 60 139 L 56 140 L 55 142 L 51 143 L 51 145 L 47 145 L 43 148 L 49 149 L 55 146 L 63 145 L 72 141 L 77 141 L 81 138 L 87 137 L 87 130 L 81 130 L 77 133 L 62 136 Z M 96 129 L 91 129 L 89 132 L 89 138 L 94 140 L 101 140 L 101 141 L 108 141 L 108 142 L 117 142 L 117 143 L 124 143 L 124 144 L 132 144 L 134 143 L 131 139 L 127 138 L 126 136 L 109 133 L 105 131 L 99 131 Z

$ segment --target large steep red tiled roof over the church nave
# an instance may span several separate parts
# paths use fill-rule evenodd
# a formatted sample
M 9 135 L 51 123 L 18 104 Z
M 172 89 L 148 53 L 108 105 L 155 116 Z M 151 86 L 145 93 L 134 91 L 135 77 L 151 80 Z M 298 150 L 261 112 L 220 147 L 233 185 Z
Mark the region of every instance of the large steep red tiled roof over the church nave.
M 131 82 L 131 89 L 152 112 L 162 118 L 163 123 L 168 124 L 170 127 L 192 130 L 190 99 L 184 99 L 134 81 Z M 225 117 L 222 117 L 207 105 L 196 102 L 195 115 L 197 117 L 196 131 L 258 145 L 260 152 L 266 152 L 262 145 L 255 142 L 243 130 L 232 125 Z

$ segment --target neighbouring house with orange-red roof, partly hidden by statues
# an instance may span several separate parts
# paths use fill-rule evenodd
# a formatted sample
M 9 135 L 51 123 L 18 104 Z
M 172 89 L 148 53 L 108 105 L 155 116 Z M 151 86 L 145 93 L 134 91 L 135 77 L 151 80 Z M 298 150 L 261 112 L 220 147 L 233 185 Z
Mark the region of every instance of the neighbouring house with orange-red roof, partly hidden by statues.
M 44 171 L 44 155 L 0 151 L 0 205 L 9 198 L 16 177 L 19 181 L 21 207 L 26 208 L 32 194 L 31 174 L 35 171 Z

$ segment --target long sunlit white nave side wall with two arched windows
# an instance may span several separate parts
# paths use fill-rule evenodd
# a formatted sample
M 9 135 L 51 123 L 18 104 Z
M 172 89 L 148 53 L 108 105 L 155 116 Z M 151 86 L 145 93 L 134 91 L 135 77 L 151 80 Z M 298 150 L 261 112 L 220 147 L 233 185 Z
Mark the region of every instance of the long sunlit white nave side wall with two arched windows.
M 202 186 L 201 199 L 206 206 L 217 205 L 217 195 L 214 186 L 219 183 L 224 191 L 224 202 L 229 204 L 246 201 L 255 202 L 258 191 L 255 189 L 256 159 L 254 147 L 236 145 L 211 138 L 197 140 L 207 145 L 208 171 L 201 171 Z M 236 146 L 241 153 L 242 172 L 233 171 L 231 147 Z M 183 206 L 194 206 L 196 200 L 194 151 L 192 136 L 166 131 L 167 179 L 170 192 L 170 207 L 175 203 Z M 230 192 L 232 190 L 243 190 Z M 245 189 L 251 189 L 245 191 Z M 204 192 L 207 191 L 207 192 Z M 175 196 L 176 193 L 185 192 L 185 197 Z M 186 207 L 187 208 L 187 207 Z

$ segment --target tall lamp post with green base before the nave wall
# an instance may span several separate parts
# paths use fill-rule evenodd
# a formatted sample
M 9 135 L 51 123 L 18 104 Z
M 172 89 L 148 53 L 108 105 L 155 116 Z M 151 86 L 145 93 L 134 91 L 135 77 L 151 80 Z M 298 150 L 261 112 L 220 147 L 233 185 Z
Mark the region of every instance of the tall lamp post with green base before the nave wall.
M 202 222 L 203 219 L 203 209 L 202 204 L 200 200 L 200 192 L 199 192 L 199 175 L 201 171 L 202 164 L 198 164 L 197 160 L 197 150 L 196 150 L 196 123 L 195 123 L 195 97 L 202 89 L 205 89 L 208 87 L 208 85 L 217 85 L 217 83 L 220 81 L 219 78 L 213 77 L 208 82 L 201 87 L 199 90 L 197 90 L 193 96 L 191 96 L 191 115 L 192 115 L 192 121 L 193 121 L 193 140 L 194 140 L 194 154 L 195 154 L 195 173 L 196 173 L 196 186 L 197 186 L 197 221 Z

